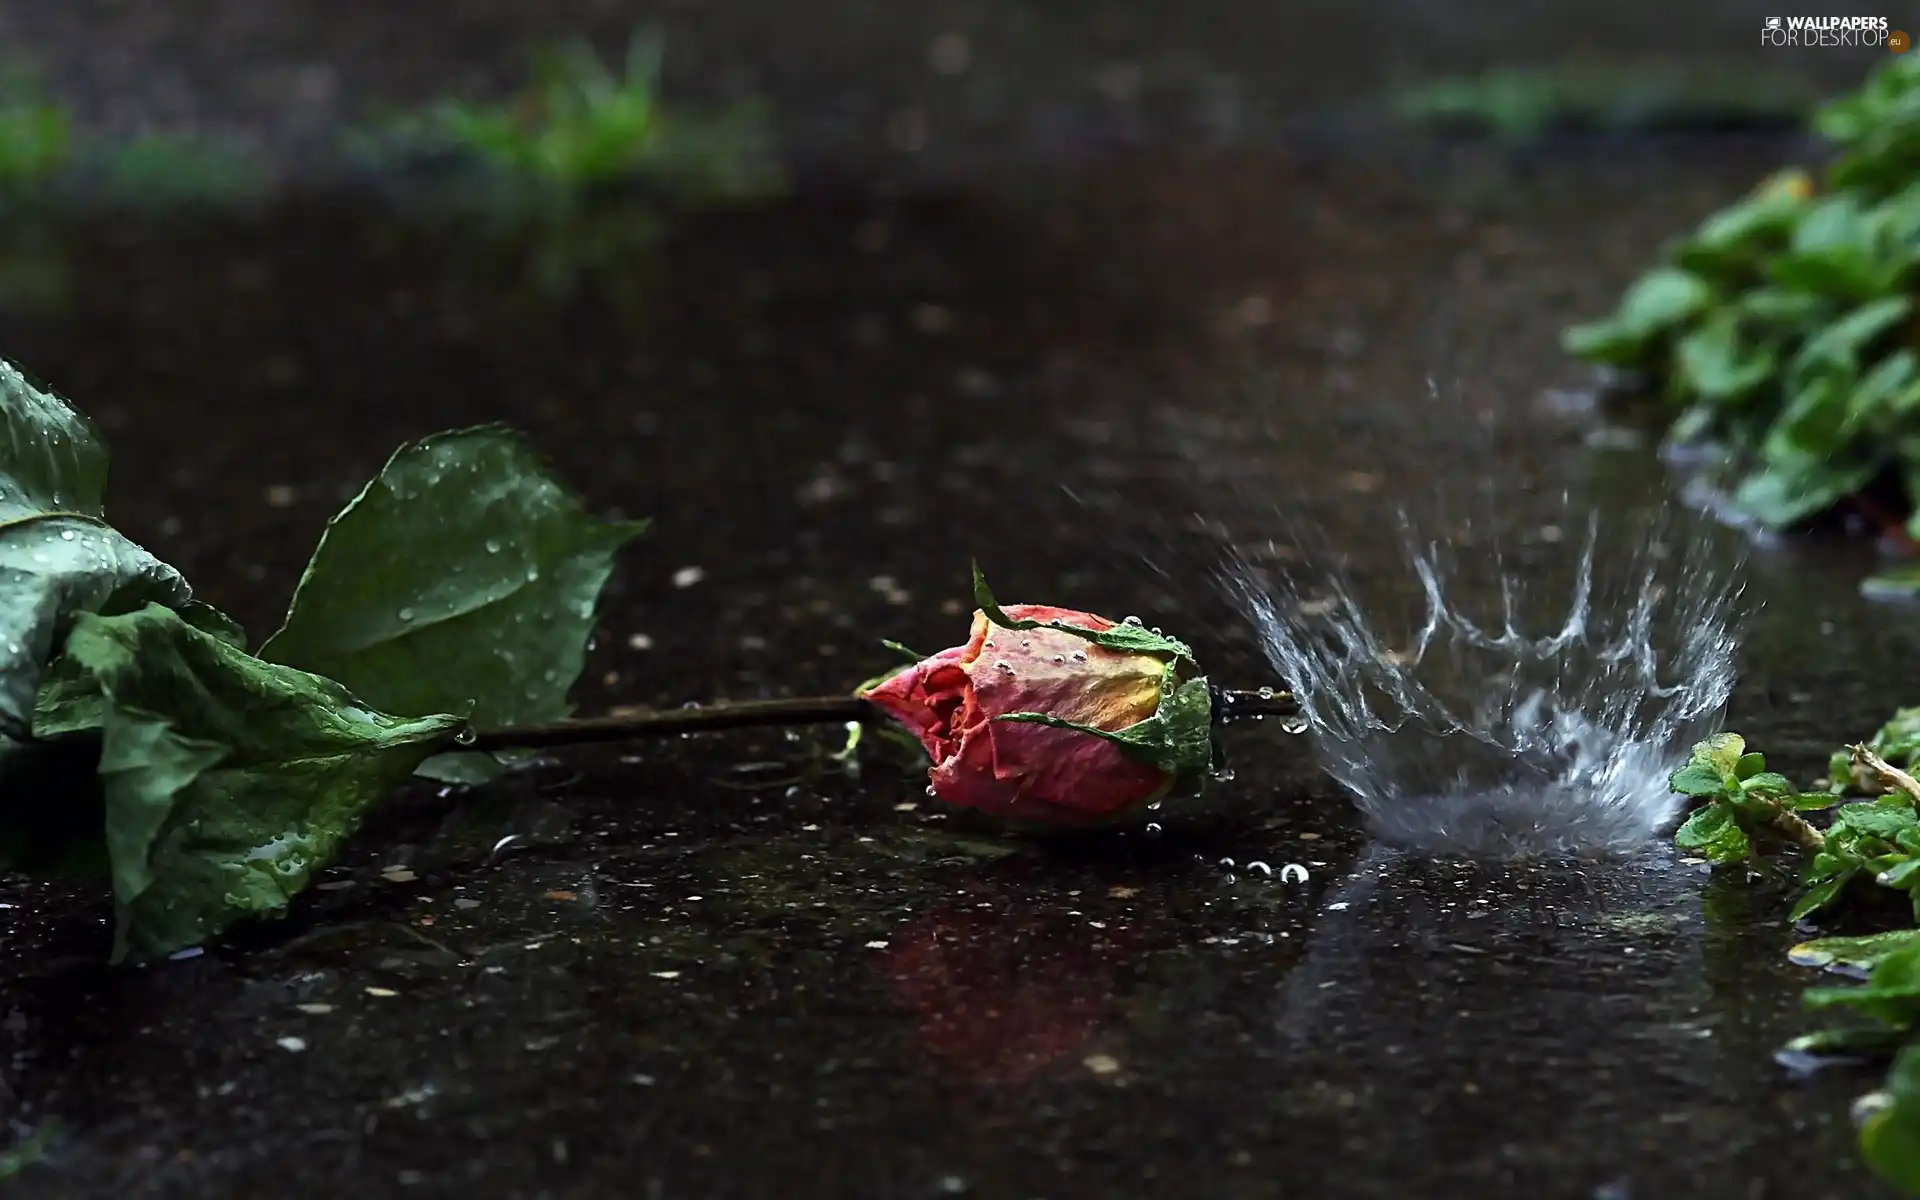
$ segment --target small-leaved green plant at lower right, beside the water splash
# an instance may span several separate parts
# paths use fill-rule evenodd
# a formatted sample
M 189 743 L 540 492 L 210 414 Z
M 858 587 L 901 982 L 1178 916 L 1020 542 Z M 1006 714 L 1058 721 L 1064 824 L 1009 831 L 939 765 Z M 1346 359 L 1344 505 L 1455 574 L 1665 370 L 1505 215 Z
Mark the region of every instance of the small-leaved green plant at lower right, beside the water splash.
M 1763 849 L 1805 854 L 1789 920 L 1828 912 L 1885 924 L 1901 912 L 1916 925 L 1793 947 L 1793 962 L 1862 983 L 1809 989 L 1807 1008 L 1849 1020 L 1793 1039 L 1782 1056 L 1891 1060 L 1885 1085 L 1855 1106 L 1860 1150 L 1880 1175 L 1920 1194 L 1920 780 L 1889 760 L 1910 764 L 1920 751 L 1914 712 L 1903 708 L 1870 741 L 1836 753 L 1832 780 L 1814 791 L 1768 772 L 1738 733 L 1695 745 L 1672 789 L 1699 804 L 1674 833 L 1682 851 L 1722 866 Z M 1826 828 L 1803 812 L 1828 812 Z

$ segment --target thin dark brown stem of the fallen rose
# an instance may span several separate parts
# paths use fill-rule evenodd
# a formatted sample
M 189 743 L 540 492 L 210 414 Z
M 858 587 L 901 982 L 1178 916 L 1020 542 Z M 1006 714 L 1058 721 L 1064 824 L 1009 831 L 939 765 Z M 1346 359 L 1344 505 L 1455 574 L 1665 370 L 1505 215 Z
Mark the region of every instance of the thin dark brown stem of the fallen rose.
M 1215 691 L 1213 720 L 1219 724 L 1260 716 L 1298 716 L 1300 705 L 1284 691 Z M 707 708 L 660 708 L 655 712 L 624 712 L 616 716 L 586 716 L 551 726 L 509 726 L 478 730 L 461 745 L 472 751 L 530 751 L 555 745 L 584 745 L 591 741 L 626 741 L 628 737 L 662 737 L 668 733 L 710 733 L 714 730 L 745 730 L 753 726 L 824 726 L 851 720 L 874 720 L 877 708 L 852 695 L 814 695 L 791 701 L 741 701 Z

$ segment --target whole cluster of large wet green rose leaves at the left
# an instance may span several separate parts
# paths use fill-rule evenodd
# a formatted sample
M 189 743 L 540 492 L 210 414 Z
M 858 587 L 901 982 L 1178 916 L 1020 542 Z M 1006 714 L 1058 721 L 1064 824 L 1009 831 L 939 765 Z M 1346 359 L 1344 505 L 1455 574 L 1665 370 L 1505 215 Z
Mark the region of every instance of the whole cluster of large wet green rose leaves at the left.
M 100 866 L 113 960 L 286 908 L 472 722 L 568 714 L 614 553 L 520 438 L 403 445 L 334 516 L 280 630 L 246 634 L 106 518 L 108 449 L 0 363 L 0 866 Z

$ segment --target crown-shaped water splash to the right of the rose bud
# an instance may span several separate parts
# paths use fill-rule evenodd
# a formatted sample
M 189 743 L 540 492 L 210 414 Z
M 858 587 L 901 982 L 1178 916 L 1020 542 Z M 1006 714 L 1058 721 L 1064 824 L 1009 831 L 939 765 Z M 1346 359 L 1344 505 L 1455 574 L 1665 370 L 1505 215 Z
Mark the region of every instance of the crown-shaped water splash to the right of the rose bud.
M 1498 549 L 1478 589 L 1498 612 L 1469 614 L 1452 545 L 1423 543 L 1405 515 L 1419 599 L 1398 645 L 1338 574 L 1309 589 L 1240 561 L 1227 582 L 1379 837 L 1467 856 L 1624 854 L 1678 816 L 1667 776 L 1734 685 L 1732 572 L 1703 543 L 1668 549 L 1663 530 L 1622 530 L 1634 547 L 1601 555 L 1590 518 L 1557 628 L 1540 622 L 1542 572 L 1507 570 Z

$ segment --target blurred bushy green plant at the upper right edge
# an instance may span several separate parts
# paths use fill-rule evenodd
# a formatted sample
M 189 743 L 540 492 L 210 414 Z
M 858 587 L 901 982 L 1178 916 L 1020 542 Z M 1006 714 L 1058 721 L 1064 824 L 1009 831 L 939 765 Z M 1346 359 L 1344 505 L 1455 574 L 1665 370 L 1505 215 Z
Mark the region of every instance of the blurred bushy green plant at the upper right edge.
M 1672 444 L 1720 451 L 1734 511 L 1786 530 L 1839 507 L 1920 541 L 1920 60 L 1824 106 L 1820 175 L 1774 175 L 1672 244 L 1565 348 L 1638 378 Z M 1920 574 L 1868 584 L 1910 591 Z

